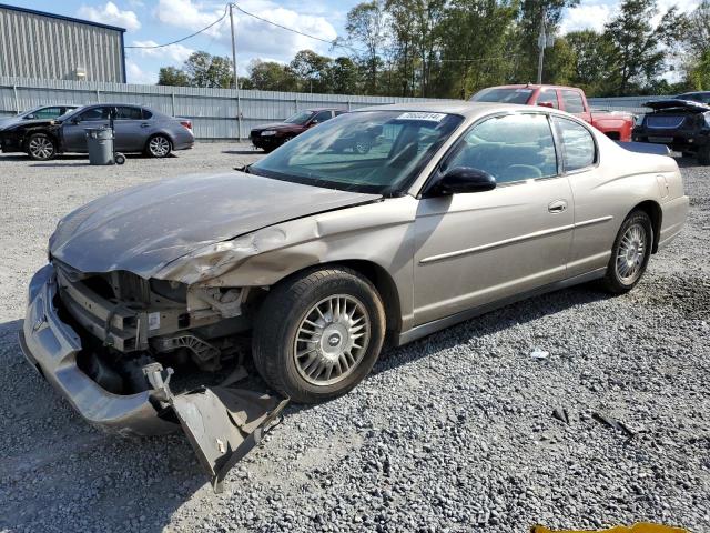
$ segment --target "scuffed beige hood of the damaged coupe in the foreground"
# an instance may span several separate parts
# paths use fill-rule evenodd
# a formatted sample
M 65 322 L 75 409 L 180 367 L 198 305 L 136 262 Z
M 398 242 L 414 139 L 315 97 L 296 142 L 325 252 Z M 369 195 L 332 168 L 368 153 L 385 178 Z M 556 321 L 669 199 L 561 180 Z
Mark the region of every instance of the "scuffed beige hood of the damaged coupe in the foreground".
M 73 211 L 58 224 L 50 253 L 87 273 L 126 270 L 151 278 L 199 248 L 381 198 L 243 172 L 162 180 Z

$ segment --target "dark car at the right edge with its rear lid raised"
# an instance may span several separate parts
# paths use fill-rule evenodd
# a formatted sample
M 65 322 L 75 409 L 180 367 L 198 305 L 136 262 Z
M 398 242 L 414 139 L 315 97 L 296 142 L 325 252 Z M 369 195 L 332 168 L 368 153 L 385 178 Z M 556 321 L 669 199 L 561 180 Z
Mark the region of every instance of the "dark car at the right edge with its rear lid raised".
M 677 97 L 643 107 L 653 111 L 633 129 L 635 141 L 666 144 L 686 157 L 697 157 L 700 164 L 710 164 L 710 105 Z

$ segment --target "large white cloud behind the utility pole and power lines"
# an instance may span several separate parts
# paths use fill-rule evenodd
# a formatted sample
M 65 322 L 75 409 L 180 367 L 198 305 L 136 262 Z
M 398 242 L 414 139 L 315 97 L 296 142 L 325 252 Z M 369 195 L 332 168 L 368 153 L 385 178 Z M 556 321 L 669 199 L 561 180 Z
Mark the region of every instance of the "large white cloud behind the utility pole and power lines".
M 240 2 L 240 6 L 263 19 L 327 41 L 333 41 L 337 37 L 333 24 L 320 14 L 302 14 L 282 8 L 271 0 L 244 0 Z M 315 4 L 314 9 L 317 9 Z M 192 31 L 211 24 L 223 13 L 224 8 L 204 8 L 203 4 L 194 0 L 160 0 L 155 10 L 156 18 L 164 24 Z M 290 61 L 298 50 L 303 49 L 315 50 L 320 53 L 334 53 L 329 51 L 328 43 L 276 28 L 240 11 L 234 12 L 234 18 L 237 63 L 240 66 L 248 63 L 254 57 L 265 56 L 280 61 Z M 230 49 L 229 18 L 205 33 L 216 39 L 226 50 Z

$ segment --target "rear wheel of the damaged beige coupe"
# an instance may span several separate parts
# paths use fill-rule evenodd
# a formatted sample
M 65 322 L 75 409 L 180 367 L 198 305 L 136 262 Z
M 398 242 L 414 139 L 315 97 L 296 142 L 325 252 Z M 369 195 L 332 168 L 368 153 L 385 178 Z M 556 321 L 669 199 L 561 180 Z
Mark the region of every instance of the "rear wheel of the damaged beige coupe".
M 623 294 L 641 280 L 653 245 L 653 224 L 645 211 L 632 211 L 621 224 L 613 241 L 604 288 Z

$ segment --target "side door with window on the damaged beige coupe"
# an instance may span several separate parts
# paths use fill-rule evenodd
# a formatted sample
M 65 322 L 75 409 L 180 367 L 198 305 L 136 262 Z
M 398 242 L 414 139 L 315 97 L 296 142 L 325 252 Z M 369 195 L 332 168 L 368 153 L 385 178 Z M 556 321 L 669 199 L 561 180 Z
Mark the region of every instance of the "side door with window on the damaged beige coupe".
M 475 168 L 497 187 L 420 201 L 417 325 L 560 281 L 571 244 L 572 197 L 546 113 L 487 118 L 449 153 L 438 174 Z

